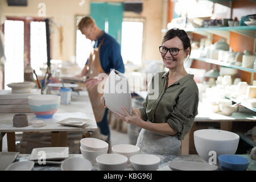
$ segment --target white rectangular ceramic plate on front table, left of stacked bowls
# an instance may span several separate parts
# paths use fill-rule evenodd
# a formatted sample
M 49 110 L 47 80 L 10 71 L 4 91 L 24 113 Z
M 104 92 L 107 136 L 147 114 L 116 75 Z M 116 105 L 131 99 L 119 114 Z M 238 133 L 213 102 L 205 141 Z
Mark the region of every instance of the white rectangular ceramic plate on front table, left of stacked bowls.
M 30 160 L 61 160 L 68 158 L 68 147 L 44 147 L 34 148 L 30 155 Z

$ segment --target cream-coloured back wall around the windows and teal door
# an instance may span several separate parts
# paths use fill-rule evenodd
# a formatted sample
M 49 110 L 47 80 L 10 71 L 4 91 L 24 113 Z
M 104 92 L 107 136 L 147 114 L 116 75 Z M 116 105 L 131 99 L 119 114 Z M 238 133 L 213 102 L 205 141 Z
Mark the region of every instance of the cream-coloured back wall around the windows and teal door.
M 124 0 L 108 0 L 106 2 L 123 2 Z M 46 17 L 53 18 L 56 23 L 63 26 L 62 55 L 60 53 L 59 31 L 52 35 L 52 59 L 71 60 L 75 55 L 75 15 L 89 15 L 90 1 L 84 1 L 79 6 L 80 0 L 27 0 L 28 6 L 8 6 L 7 1 L 1 0 L 1 23 L 6 16 L 32 16 L 39 17 L 39 3 L 46 5 Z M 93 1 L 94 2 L 94 1 Z M 102 2 L 102 1 L 101 1 Z M 124 17 L 144 18 L 144 60 L 159 60 L 158 46 L 162 39 L 162 1 L 147 0 L 143 2 L 141 14 L 125 12 Z

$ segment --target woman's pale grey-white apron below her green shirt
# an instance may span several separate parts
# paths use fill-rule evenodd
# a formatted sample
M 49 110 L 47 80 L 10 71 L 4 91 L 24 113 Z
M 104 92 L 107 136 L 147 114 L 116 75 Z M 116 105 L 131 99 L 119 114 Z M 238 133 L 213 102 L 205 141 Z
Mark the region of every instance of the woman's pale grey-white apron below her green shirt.
M 137 139 L 141 154 L 180 155 L 181 141 L 177 136 L 154 133 L 142 129 Z

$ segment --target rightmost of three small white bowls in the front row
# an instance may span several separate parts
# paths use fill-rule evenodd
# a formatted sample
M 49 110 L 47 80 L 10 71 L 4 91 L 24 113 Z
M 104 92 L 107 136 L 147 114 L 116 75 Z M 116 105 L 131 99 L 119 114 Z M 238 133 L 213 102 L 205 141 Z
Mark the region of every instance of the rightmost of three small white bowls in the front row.
M 159 167 L 160 158 L 151 154 L 137 154 L 130 157 L 130 163 L 137 171 L 155 171 Z

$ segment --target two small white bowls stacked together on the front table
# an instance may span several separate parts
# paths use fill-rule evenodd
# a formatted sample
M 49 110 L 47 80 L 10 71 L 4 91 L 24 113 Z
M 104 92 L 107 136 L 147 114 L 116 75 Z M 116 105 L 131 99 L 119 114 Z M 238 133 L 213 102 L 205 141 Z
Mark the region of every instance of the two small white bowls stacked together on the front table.
M 82 138 L 80 144 L 82 156 L 93 165 L 97 163 L 97 156 L 106 154 L 109 150 L 109 144 L 97 138 Z

